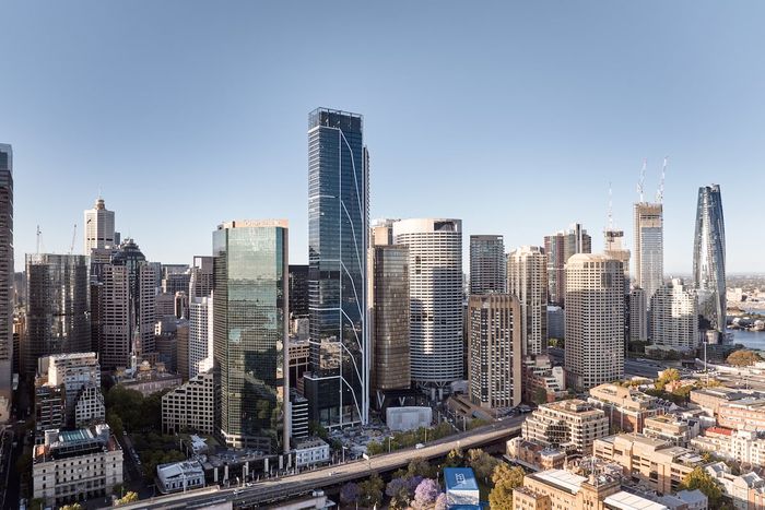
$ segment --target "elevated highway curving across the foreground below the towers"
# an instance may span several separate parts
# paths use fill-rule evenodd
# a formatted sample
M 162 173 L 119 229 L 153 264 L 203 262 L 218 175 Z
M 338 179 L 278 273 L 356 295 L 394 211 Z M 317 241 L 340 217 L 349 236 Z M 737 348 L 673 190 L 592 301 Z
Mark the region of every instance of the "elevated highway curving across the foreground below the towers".
M 438 439 L 421 449 L 409 448 L 386 453 L 367 460 L 358 460 L 341 465 L 321 467 L 297 475 L 258 482 L 249 487 L 219 489 L 208 487 L 189 490 L 186 494 L 162 496 L 143 500 L 122 509 L 170 509 L 201 508 L 213 502 L 233 501 L 234 506 L 255 506 L 285 498 L 299 496 L 322 487 L 343 484 L 373 473 L 392 471 L 409 464 L 412 459 L 436 459 L 448 454 L 454 449 L 469 449 L 484 446 L 520 432 L 520 425 L 526 416 L 505 418 L 485 427 L 456 434 Z

